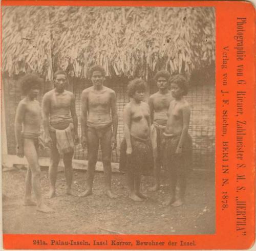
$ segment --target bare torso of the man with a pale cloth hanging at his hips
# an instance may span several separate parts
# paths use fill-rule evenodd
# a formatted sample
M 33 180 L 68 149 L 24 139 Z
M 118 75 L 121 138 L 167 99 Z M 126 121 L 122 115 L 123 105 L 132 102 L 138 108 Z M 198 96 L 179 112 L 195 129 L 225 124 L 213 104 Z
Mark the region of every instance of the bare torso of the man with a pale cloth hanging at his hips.
M 73 94 L 68 90 L 57 93 L 55 89 L 46 94 L 49 102 L 49 115 L 70 115 L 70 108 Z M 58 130 L 66 129 L 67 125 L 55 126 Z

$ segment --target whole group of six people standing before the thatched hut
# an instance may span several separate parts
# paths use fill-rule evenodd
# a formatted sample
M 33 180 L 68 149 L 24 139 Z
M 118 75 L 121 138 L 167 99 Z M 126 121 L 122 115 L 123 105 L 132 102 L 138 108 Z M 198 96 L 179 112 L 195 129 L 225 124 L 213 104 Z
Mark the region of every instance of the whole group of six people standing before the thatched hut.
M 85 191 L 78 196 L 92 194 L 98 148 L 101 145 L 104 170 L 105 194 L 117 196 L 111 191 L 111 155 L 117 145 L 118 116 L 116 94 L 104 86 L 105 71 L 94 65 L 89 71 L 92 86 L 81 95 L 81 145 L 88 148 L 88 169 Z M 173 207 L 184 203 L 186 176 L 191 166 L 191 138 L 188 134 L 190 107 L 184 99 L 188 84 L 182 75 L 170 78 L 166 71 L 155 76 L 158 92 L 148 103 L 144 102 L 145 82 L 136 78 L 127 86 L 130 102 L 124 106 L 124 139 L 120 149 L 120 171 L 127 172 L 129 198 L 142 201 L 147 198 L 141 192 L 141 176 L 154 173 L 155 185 L 160 187 L 160 169 L 168 173 L 170 193 L 166 205 Z M 73 93 L 66 90 L 67 74 L 57 71 L 54 74 L 54 88 L 42 98 L 42 107 L 36 100 L 43 81 L 34 74 L 20 79 L 24 96 L 19 102 L 15 117 L 16 152 L 28 161 L 25 181 L 25 206 L 37 206 L 37 210 L 50 213 L 42 199 L 40 189 L 40 167 L 38 147 L 50 148 L 49 197 L 56 195 L 55 184 L 60 157 L 63 158 L 67 182 L 66 193 L 75 195 L 72 190 L 72 158 L 74 145 L 79 143 L 78 119 Z M 170 84 L 170 90 L 168 88 Z M 44 137 L 40 138 L 40 125 L 44 126 Z M 36 202 L 31 198 L 32 188 Z M 177 191 L 179 191 L 177 193 Z

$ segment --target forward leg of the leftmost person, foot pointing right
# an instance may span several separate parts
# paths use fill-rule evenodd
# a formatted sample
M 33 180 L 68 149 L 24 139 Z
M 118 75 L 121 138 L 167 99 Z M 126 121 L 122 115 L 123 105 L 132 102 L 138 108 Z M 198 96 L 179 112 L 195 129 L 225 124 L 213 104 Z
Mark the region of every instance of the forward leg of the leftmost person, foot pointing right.
M 38 155 L 34 140 L 24 139 L 24 155 L 27 158 L 29 168 L 31 170 L 31 184 L 36 197 L 37 210 L 44 213 L 50 213 L 52 212 L 52 209 L 46 206 L 46 204 L 42 201 L 40 188 L 40 166 L 38 164 Z

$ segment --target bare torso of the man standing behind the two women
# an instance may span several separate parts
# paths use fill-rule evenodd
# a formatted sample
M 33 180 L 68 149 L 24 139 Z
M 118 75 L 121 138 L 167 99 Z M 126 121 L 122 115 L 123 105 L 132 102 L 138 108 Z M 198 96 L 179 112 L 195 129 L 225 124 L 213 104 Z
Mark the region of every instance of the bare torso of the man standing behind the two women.
M 166 94 L 161 94 L 160 92 L 157 92 L 150 97 L 149 103 L 152 106 L 151 109 L 153 109 L 154 113 L 156 112 L 166 112 L 168 111 L 169 104 L 173 100 L 172 94 L 168 90 Z M 166 125 L 166 119 L 155 119 L 154 121 L 157 122 L 159 125 Z

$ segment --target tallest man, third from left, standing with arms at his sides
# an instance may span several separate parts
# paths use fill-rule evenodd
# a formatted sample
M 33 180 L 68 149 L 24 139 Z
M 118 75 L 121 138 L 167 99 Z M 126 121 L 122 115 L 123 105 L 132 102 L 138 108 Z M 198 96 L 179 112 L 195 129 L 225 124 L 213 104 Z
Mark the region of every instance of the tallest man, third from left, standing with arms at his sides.
M 116 147 L 117 110 L 114 90 L 105 87 L 105 70 L 94 65 L 89 71 L 93 86 L 82 92 L 81 144 L 88 145 L 88 170 L 86 191 L 80 197 L 92 194 L 93 178 L 97 162 L 99 143 L 102 151 L 105 194 L 110 198 L 117 196 L 111 192 L 111 154 Z M 113 132 L 112 132 L 113 126 Z

